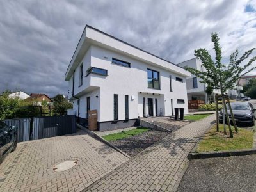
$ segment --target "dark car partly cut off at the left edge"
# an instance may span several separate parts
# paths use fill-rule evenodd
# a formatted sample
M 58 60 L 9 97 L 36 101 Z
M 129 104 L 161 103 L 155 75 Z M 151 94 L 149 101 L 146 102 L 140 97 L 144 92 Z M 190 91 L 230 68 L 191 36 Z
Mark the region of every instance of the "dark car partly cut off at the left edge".
M 0 163 L 17 148 L 17 127 L 0 121 Z

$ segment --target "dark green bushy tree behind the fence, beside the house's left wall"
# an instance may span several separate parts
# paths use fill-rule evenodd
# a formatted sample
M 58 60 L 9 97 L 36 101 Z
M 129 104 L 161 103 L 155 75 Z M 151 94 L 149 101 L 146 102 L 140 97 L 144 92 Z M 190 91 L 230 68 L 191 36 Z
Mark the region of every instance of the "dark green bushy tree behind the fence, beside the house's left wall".
M 72 108 L 73 105 L 63 95 L 56 95 L 54 99 L 54 115 L 66 115 L 67 109 Z

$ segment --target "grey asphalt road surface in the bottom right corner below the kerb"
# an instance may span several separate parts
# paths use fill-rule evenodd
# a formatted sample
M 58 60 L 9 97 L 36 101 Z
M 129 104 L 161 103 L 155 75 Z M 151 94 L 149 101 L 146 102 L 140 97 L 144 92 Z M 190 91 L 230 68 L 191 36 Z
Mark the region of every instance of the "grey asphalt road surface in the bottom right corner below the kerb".
M 256 191 L 256 155 L 196 159 L 177 191 Z

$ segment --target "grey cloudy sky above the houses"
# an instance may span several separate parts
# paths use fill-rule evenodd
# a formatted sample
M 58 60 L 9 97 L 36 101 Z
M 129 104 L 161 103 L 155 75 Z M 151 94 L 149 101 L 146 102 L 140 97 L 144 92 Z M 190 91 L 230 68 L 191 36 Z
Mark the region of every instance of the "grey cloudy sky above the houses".
M 0 92 L 67 95 L 64 75 L 86 24 L 173 63 L 212 51 L 217 31 L 225 59 L 256 47 L 256 0 L 0 0 Z

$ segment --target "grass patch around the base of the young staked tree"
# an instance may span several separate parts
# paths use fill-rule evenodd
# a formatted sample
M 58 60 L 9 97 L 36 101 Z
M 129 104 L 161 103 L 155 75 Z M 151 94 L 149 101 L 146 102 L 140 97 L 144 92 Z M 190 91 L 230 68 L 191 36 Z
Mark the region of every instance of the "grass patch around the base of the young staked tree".
M 243 128 L 238 128 L 238 133 L 234 127 L 232 131 L 234 138 L 229 138 L 228 126 L 227 135 L 223 133 L 223 124 L 220 124 L 220 131 L 216 132 L 216 125 L 204 134 L 203 139 L 198 143 L 198 148 L 195 152 L 209 152 L 220 150 L 238 150 L 252 148 L 254 131 Z

